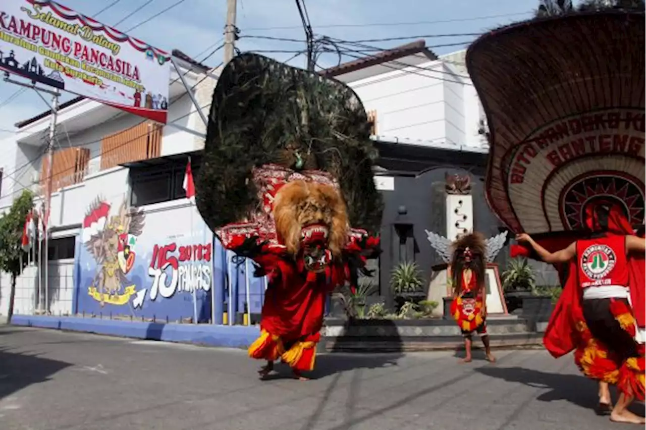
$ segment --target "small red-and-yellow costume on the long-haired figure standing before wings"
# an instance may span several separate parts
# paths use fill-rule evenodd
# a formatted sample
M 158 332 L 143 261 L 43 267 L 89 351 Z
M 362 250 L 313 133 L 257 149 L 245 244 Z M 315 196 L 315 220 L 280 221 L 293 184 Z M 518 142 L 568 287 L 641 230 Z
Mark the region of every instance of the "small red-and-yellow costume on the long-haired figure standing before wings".
M 451 303 L 451 314 L 463 333 L 480 331 L 485 334 L 485 318 L 483 307 L 485 300 L 483 291 L 479 287 L 474 271 L 471 271 L 471 279 L 467 283 L 464 278 L 466 271 L 462 273 L 462 285 L 460 293 Z M 482 329 L 480 329 L 482 327 Z

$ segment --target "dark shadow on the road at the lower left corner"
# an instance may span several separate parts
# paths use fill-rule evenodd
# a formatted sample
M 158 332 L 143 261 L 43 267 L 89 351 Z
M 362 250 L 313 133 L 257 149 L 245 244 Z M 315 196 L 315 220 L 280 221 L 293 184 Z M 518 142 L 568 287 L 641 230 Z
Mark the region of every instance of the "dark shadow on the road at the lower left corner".
M 0 399 L 29 385 L 46 382 L 52 374 L 71 365 L 36 354 L 12 353 L 0 348 Z

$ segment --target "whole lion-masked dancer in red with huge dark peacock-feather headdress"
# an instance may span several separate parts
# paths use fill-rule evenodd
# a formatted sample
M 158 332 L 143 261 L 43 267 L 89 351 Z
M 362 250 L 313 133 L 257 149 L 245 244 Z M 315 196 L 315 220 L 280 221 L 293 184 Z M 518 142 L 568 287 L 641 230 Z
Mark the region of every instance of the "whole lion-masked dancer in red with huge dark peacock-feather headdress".
M 249 355 L 311 370 L 326 299 L 377 256 L 378 153 L 359 97 L 339 81 L 253 53 L 223 68 L 196 203 L 225 249 L 269 282 Z

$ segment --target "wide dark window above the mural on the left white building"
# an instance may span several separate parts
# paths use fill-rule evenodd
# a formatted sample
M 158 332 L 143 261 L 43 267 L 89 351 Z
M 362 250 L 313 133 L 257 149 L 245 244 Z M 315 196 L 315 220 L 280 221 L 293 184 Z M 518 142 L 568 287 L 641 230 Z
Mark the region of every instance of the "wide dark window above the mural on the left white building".
M 149 167 L 130 167 L 130 204 L 140 207 L 185 198 L 186 163 L 186 158 L 165 159 Z M 199 163 L 191 159 L 193 178 L 198 175 L 199 167 Z

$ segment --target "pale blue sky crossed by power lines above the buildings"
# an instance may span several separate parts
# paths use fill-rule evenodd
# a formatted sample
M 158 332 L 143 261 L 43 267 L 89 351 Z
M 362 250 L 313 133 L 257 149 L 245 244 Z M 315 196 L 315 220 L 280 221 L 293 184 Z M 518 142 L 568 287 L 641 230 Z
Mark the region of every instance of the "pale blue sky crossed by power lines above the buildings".
M 121 0 L 96 16 L 99 10 L 113 1 L 60 0 L 59 3 L 82 14 L 94 16 L 107 25 L 114 25 L 149 0 Z M 122 31 L 128 30 L 176 1 L 153 0 L 116 27 Z M 396 41 L 366 42 L 366 45 L 375 48 L 403 45 L 417 39 L 413 36 L 420 35 L 481 34 L 497 26 L 530 17 L 537 3 L 537 0 L 306 0 L 315 34 L 344 41 L 406 37 Z M 189 56 L 196 56 L 223 36 L 225 15 L 226 0 L 185 0 L 129 34 L 161 49 L 176 48 Z M 242 51 L 291 51 L 264 53 L 286 61 L 305 47 L 300 42 L 304 39 L 304 32 L 293 0 L 238 0 L 236 24 L 243 36 L 237 43 Z M 271 36 L 298 39 L 299 42 L 247 39 L 244 36 Z M 426 45 L 459 44 L 432 48 L 437 54 L 446 54 L 466 48 L 474 39 L 475 36 L 427 37 Z M 207 50 L 207 54 L 210 51 L 211 49 Z M 220 50 L 205 63 L 218 65 L 222 61 L 222 55 Z M 196 59 L 203 59 L 203 56 Z M 354 58 L 346 56 L 343 61 L 352 59 Z M 305 61 L 304 56 L 299 56 L 290 61 L 290 64 L 304 67 Z M 337 61 L 336 54 L 328 54 L 321 58 L 320 65 L 329 67 Z M 9 136 L 12 132 L 5 130 L 14 130 L 14 123 L 17 121 L 47 109 L 33 91 L 24 92 L 5 103 L 18 89 L 15 85 L 0 81 L 0 138 Z M 71 97 L 66 94 L 63 101 Z

